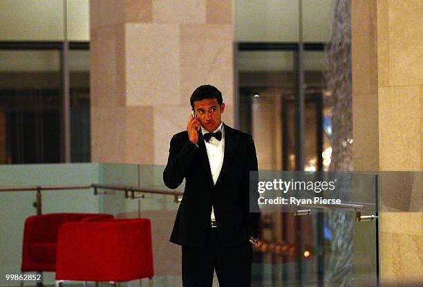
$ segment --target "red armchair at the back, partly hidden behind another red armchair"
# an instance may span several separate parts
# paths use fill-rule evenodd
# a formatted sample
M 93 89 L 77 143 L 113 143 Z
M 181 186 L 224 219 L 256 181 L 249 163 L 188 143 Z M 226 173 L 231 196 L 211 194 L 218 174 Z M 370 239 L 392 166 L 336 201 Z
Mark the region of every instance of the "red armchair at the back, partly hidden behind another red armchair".
M 103 219 L 113 219 L 113 215 L 52 213 L 28 217 L 23 230 L 21 271 L 55 271 L 59 228 L 67 222 Z

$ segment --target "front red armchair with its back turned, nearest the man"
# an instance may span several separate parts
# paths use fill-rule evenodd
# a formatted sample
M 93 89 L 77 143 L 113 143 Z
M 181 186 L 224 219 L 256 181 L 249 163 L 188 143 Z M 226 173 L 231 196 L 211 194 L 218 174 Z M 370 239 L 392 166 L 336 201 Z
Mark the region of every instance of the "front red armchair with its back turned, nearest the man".
M 66 223 L 59 230 L 56 280 L 131 281 L 153 277 L 149 219 Z

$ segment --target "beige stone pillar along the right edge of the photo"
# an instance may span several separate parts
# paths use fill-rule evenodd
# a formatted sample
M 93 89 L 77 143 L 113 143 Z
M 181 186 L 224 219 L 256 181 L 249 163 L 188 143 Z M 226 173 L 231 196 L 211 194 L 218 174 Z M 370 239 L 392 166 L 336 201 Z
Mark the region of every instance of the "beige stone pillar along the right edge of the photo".
M 351 3 L 355 171 L 422 171 L 423 2 Z M 379 214 L 382 286 L 423 282 L 422 253 L 422 212 Z

